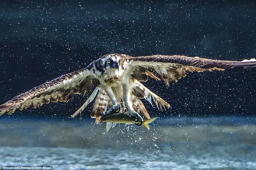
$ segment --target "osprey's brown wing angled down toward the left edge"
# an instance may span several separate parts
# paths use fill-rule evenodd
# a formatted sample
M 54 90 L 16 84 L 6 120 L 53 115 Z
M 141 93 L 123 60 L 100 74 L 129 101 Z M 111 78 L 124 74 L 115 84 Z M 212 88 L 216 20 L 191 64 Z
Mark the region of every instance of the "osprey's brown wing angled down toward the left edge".
M 0 115 L 5 112 L 12 114 L 17 108 L 22 110 L 28 107 L 36 108 L 50 102 L 68 101 L 74 94 L 85 95 L 92 86 L 98 86 L 98 84 L 95 74 L 88 69 L 61 75 L 7 101 L 0 106 Z

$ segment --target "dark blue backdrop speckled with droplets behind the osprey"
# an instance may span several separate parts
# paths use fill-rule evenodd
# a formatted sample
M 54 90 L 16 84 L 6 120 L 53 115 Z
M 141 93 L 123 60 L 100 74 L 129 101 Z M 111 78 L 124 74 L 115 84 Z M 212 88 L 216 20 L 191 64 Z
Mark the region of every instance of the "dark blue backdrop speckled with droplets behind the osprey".
M 256 57 L 254 1 L 3 1 L 0 23 L 1 104 L 107 53 Z M 189 73 L 170 87 L 150 80 L 147 86 L 172 108 L 146 106 L 153 115 L 255 115 L 255 73 Z M 66 117 L 85 100 L 15 114 Z

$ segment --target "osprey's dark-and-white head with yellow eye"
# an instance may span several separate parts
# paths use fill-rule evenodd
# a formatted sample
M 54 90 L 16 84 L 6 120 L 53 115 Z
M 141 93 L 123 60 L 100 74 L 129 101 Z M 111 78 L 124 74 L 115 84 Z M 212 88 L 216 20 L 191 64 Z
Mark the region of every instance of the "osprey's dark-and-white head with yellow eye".
M 103 58 L 102 65 L 106 70 L 117 69 L 119 70 L 120 57 L 115 54 L 108 54 Z

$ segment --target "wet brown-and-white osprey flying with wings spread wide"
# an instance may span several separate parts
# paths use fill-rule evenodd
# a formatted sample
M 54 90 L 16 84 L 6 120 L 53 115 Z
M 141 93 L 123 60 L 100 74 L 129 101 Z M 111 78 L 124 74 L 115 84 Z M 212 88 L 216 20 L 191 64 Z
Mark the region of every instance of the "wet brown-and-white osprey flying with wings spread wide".
M 94 88 L 90 97 L 72 117 L 81 114 L 84 108 L 95 98 L 91 117 L 100 123 L 102 114 L 129 111 L 131 115 L 150 118 L 141 99 L 156 104 L 159 110 L 169 108 L 161 97 L 154 94 L 141 82 L 151 77 L 169 82 L 177 82 L 186 77 L 186 72 L 202 72 L 225 69 L 251 69 L 256 67 L 256 60 L 218 61 L 181 55 L 153 55 L 132 57 L 125 54 L 107 54 L 89 64 L 85 69 L 61 75 L 49 82 L 20 94 L 0 106 L 0 115 L 12 114 L 15 109 L 36 108 L 45 103 L 68 101 L 75 94 L 85 95 Z M 157 74 L 156 74 L 157 73 Z

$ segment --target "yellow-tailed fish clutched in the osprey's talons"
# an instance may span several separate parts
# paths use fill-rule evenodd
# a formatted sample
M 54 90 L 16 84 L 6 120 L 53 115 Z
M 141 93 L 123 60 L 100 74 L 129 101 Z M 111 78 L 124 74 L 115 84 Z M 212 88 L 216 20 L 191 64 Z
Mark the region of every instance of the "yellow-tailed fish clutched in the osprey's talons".
M 107 122 L 106 131 L 108 132 L 109 129 L 112 127 L 114 128 L 117 123 L 125 123 L 125 124 L 135 124 L 135 125 L 143 125 L 147 129 L 149 129 L 149 123 L 154 122 L 157 117 L 149 118 L 147 120 L 139 121 L 136 115 L 132 115 L 130 111 L 125 113 L 110 113 L 102 115 L 100 118 L 101 122 Z

